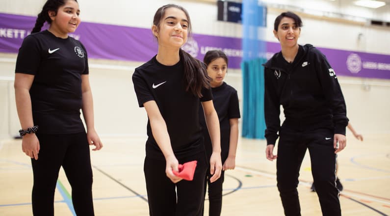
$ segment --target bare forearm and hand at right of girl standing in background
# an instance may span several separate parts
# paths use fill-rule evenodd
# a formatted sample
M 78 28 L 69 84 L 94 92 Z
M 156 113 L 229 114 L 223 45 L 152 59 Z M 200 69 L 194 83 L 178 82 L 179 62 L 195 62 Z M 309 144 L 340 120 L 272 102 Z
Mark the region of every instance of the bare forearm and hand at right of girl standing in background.
M 229 119 L 230 123 L 230 139 L 229 139 L 229 155 L 223 164 L 223 170 L 234 169 L 235 153 L 237 151 L 238 142 L 238 118 Z

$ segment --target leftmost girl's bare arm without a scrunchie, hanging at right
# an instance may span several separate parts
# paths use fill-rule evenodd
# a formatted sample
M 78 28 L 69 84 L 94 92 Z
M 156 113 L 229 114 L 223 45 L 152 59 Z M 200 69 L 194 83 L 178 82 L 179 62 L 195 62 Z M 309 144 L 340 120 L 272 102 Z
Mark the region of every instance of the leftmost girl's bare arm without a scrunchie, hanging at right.
M 100 150 L 103 143 L 99 135 L 95 131 L 95 120 L 93 111 L 93 99 L 91 86 L 89 84 L 89 76 L 81 75 L 81 91 L 82 91 L 82 114 L 87 126 L 87 139 L 90 145 L 95 145 L 94 151 Z

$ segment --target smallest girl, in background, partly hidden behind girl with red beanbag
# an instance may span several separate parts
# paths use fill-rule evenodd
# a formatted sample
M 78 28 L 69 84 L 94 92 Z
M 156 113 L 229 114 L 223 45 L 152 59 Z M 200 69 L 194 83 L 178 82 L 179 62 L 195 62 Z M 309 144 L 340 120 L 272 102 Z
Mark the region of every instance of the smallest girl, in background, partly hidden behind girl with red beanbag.
M 208 51 L 203 61 L 207 65 L 208 76 L 212 79 L 210 81 L 213 97 L 212 102 L 219 118 L 221 130 L 221 159 L 223 163 L 221 177 L 217 181 L 209 181 L 211 175 L 207 172 L 205 196 L 208 185 L 209 216 L 219 216 L 221 215 L 222 209 L 222 184 L 224 182 L 224 173 L 225 170 L 234 169 L 235 167 L 240 110 L 238 106 L 237 91 L 223 81 L 228 68 L 228 57 L 226 54 L 219 50 Z M 203 109 L 200 108 L 200 122 L 205 137 L 206 154 L 209 158 L 212 154 L 211 140 L 202 112 Z

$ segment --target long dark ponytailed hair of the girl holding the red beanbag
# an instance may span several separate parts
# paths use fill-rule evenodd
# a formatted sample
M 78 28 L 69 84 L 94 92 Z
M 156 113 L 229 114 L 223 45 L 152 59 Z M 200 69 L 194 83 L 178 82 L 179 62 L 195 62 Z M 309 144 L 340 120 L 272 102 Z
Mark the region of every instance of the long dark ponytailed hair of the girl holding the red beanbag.
M 176 4 L 166 4 L 157 9 L 155 17 L 153 18 L 153 25 L 159 28 L 161 19 L 164 17 L 165 10 L 170 7 L 175 7 L 182 10 L 188 20 L 188 38 L 191 36 L 191 20 L 189 18 L 187 10 L 182 6 Z M 184 63 L 184 84 L 186 86 L 186 91 L 191 91 L 192 94 L 198 97 L 202 97 L 202 88 L 210 88 L 211 78 L 208 77 L 207 70 L 204 67 L 203 63 L 198 59 L 192 57 L 187 52 L 182 49 L 179 50 L 180 59 Z

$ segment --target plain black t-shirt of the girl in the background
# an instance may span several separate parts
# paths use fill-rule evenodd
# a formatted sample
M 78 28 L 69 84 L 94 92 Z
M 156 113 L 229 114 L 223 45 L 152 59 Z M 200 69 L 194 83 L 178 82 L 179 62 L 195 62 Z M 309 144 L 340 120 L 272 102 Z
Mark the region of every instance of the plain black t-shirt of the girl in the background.
M 240 118 L 240 109 L 238 105 L 238 96 L 237 91 L 226 82 L 223 82 L 222 85 L 211 88 L 214 108 L 217 111 L 219 119 L 219 127 L 221 130 L 221 158 L 225 162 L 226 158 L 229 155 L 229 146 L 230 146 L 230 119 L 231 118 Z M 212 145 L 211 139 L 208 134 L 208 129 L 206 126 L 206 120 L 203 115 L 203 108 L 199 108 L 199 117 L 202 127 L 202 133 L 205 137 L 205 148 L 208 155 L 208 158 L 211 157 Z

